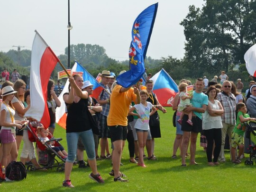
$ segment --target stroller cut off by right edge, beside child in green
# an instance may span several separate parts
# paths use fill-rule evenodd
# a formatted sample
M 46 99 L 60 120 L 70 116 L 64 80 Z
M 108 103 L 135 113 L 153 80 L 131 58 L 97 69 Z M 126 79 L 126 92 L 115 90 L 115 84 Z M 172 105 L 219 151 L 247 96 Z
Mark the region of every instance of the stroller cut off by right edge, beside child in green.
M 247 149 L 250 154 L 250 158 L 247 158 L 245 165 L 253 165 L 252 159 L 256 159 L 256 121 L 245 122 L 245 125 L 247 126 L 246 137 L 249 139 Z

